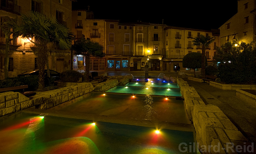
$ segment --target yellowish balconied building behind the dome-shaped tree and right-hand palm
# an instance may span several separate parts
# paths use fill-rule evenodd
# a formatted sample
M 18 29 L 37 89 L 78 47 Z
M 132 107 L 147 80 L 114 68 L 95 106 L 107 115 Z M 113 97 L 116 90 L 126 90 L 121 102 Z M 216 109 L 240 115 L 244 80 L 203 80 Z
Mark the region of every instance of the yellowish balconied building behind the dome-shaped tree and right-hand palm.
M 180 66 L 181 71 L 189 71 L 188 68 L 182 67 L 183 57 L 191 52 L 202 53 L 201 46 L 193 45 L 193 38 L 199 35 L 215 37 L 215 40 L 205 50 L 205 55 L 209 63 L 212 62 L 219 46 L 219 33 L 217 30 L 205 31 L 184 27 L 168 26 L 164 28 L 165 34 L 165 52 L 163 52 L 163 71 L 175 71 Z

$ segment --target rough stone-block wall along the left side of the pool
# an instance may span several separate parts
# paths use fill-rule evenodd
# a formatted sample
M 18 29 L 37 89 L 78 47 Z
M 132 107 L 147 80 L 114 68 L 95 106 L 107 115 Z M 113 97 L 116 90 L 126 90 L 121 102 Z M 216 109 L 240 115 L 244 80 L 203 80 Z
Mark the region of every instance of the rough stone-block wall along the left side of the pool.
M 66 101 L 74 100 L 94 90 L 91 83 L 77 83 L 76 85 L 37 93 L 28 98 L 18 92 L 0 93 L 0 116 L 27 108 L 49 109 Z

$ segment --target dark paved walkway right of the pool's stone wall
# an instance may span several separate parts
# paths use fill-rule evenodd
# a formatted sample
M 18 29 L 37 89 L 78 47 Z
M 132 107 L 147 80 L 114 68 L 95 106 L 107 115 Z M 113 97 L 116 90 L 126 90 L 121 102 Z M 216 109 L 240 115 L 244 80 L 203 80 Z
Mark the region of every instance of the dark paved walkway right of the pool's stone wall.
M 187 79 L 184 81 L 196 89 L 205 104 L 219 107 L 250 142 L 256 142 L 255 107 L 236 97 L 235 90 L 221 90 L 209 85 L 209 83 Z M 254 147 L 256 147 L 255 144 Z

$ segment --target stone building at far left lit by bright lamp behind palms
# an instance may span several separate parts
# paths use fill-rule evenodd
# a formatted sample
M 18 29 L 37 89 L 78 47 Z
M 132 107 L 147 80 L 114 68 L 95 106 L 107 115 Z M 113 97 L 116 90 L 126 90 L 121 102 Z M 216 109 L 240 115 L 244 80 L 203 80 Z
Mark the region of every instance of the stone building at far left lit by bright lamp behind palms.
M 43 14 L 52 14 L 71 30 L 71 0 L 1 0 L 1 21 L 8 18 L 20 18 L 20 14 L 32 10 Z M 33 39 L 33 38 L 32 38 Z M 55 44 L 48 44 L 49 68 L 57 72 L 70 69 L 70 50 L 58 50 Z M 4 77 L 5 36 L 0 29 L 0 79 Z M 20 37 L 10 45 L 9 77 L 37 69 L 35 46 L 28 39 Z

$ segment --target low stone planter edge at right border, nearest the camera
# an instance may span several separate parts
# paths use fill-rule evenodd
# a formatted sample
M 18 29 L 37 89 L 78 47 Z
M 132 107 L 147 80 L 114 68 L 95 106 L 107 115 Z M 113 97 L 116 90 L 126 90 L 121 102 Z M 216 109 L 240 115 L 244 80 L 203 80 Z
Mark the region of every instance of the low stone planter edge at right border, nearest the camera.
M 236 96 L 238 98 L 241 98 L 248 104 L 252 105 L 253 107 L 256 107 L 256 95 L 253 95 L 240 89 L 237 89 L 236 91 Z

